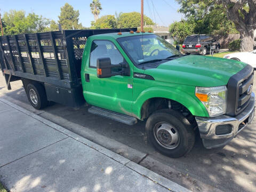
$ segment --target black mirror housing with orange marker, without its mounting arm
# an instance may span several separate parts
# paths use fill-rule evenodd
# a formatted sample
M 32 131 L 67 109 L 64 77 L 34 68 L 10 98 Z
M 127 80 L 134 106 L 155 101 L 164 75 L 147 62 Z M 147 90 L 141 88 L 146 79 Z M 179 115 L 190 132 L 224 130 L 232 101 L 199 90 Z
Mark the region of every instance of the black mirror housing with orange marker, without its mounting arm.
M 97 59 L 97 77 L 107 78 L 111 77 L 111 60 L 110 58 Z

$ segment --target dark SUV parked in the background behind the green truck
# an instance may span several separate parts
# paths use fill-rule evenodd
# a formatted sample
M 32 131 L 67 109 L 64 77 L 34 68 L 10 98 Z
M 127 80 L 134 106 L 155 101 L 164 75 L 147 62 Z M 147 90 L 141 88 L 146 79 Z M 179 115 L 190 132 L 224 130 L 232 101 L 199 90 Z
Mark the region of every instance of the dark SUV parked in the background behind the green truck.
M 190 35 L 187 36 L 183 45 L 183 53 L 199 53 L 206 55 L 210 53 L 211 46 L 215 45 L 213 50 L 218 53 L 220 50 L 220 43 L 216 42 L 215 39 L 210 35 Z

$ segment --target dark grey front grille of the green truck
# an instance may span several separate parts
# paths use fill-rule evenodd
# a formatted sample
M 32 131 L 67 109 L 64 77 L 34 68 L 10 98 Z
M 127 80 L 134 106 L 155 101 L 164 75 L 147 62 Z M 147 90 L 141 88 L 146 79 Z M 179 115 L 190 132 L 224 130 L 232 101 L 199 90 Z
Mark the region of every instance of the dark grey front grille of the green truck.
M 251 92 L 248 93 L 247 91 L 252 84 L 253 68 L 250 65 L 245 66 L 237 74 L 230 77 L 227 85 L 227 115 L 236 116 L 247 107 L 251 98 Z

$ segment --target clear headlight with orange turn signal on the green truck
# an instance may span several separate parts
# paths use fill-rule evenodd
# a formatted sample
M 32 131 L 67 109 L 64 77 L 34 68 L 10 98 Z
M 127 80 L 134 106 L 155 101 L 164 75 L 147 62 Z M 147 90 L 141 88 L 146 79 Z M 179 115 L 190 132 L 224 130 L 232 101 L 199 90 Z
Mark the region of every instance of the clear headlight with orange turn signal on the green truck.
M 210 117 L 226 113 L 227 87 L 196 87 L 196 97 L 203 103 Z

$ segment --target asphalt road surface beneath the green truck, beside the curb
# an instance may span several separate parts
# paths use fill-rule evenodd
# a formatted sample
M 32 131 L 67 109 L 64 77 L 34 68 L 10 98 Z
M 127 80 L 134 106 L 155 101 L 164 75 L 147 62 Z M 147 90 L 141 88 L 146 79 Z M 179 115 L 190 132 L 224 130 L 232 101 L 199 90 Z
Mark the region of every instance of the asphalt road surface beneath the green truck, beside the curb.
M 22 107 L 28 106 L 25 105 L 29 104 L 29 101 L 21 81 L 12 82 L 11 85 L 12 90 L 7 91 L 1 75 L 0 97 L 17 101 L 16 104 Z M 31 110 L 30 107 L 26 108 Z M 55 123 L 58 122 L 58 118 L 66 119 L 68 122 L 82 125 L 81 129 L 83 126 L 87 127 L 105 138 L 145 153 L 147 155 L 141 159 L 140 165 L 193 191 L 256 191 L 256 119 L 224 148 L 205 149 L 197 135 L 195 146 L 189 154 L 181 158 L 169 158 L 157 153 L 147 143 L 145 122 L 129 126 L 92 115 L 87 109 L 88 107 L 81 107 L 75 110 L 54 104 L 42 112 L 37 111 L 37 114 L 52 121 L 55 119 Z M 69 127 L 61 122 L 59 124 Z M 102 142 L 108 143 L 108 139 Z

